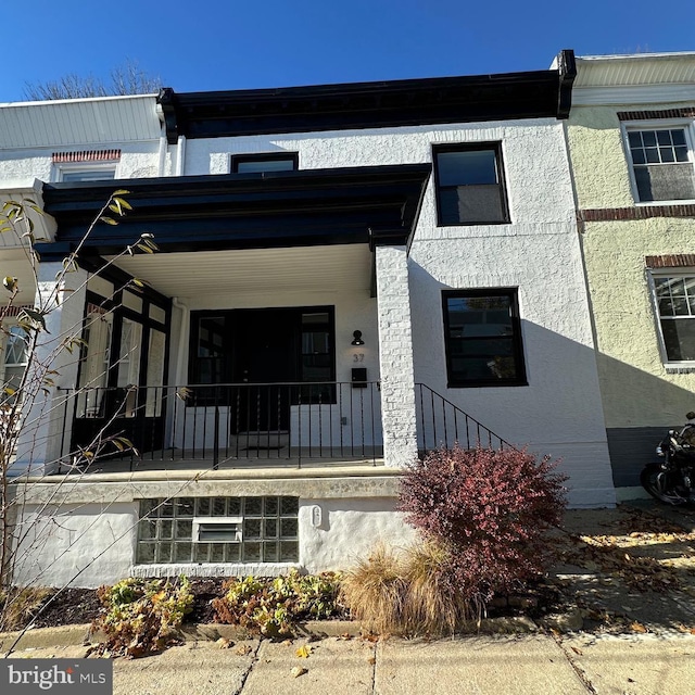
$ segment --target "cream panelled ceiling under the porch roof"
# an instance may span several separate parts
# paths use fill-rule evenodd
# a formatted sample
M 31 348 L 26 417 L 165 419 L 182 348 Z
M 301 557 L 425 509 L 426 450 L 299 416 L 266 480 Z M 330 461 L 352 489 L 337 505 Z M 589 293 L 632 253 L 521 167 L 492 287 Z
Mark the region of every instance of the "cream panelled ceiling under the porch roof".
M 371 282 L 367 244 L 161 253 L 128 256 L 117 265 L 166 296 L 359 291 Z

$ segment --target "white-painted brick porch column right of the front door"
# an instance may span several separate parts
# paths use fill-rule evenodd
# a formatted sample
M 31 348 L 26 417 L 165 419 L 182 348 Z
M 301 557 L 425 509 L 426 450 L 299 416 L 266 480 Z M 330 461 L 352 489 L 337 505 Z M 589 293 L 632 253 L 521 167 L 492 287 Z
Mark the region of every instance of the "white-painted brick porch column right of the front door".
M 387 466 L 417 457 L 413 324 L 405 247 L 377 247 L 377 311 L 381 370 L 381 418 Z

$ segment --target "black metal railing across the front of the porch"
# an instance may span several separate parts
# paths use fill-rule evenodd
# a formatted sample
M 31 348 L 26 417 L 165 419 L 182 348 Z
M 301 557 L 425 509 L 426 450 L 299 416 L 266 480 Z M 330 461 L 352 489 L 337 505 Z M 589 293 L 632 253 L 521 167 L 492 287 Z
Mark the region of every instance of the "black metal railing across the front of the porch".
M 359 459 L 383 456 L 379 384 L 226 383 L 65 392 L 62 452 L 124 437 L 131 463 Z M 116 448 L 116 451 L 114 451 Z M 103 447 L 102 457 L 117 456 Z M 121 458 L 125 457 L 124 455 Z

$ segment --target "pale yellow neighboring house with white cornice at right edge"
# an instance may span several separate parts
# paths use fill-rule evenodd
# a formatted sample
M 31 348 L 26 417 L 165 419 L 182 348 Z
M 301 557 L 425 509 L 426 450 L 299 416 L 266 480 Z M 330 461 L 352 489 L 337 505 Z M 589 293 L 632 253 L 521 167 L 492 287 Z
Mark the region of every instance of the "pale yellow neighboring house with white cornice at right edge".
M 695 409 L 695 53 L 577 59 L 567 123 L 614 481 Z

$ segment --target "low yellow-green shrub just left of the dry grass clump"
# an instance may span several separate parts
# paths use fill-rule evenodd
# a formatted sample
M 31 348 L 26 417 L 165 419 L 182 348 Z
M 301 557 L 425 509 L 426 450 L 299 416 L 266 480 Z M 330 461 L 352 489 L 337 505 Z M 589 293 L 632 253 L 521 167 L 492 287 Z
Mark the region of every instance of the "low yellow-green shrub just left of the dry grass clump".
M 248 628 L 267 637 L 293 634 L 301 620 L 320 620 L 341 611 L 340 574 L 300 574 L 292 570 L 276 578 L 232 577 L 224 598 L 213 599 L 215 619 Z

